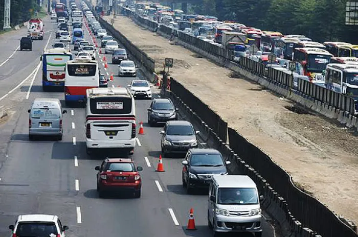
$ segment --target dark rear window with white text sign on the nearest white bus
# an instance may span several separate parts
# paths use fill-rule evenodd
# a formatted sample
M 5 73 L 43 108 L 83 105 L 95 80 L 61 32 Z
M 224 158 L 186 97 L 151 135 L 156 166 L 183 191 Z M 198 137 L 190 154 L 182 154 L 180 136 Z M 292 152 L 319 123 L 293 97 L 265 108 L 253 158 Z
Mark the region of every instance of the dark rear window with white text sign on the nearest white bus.
M 89 108 L 93 114 L 129 114 L 132 100 L 129 97 L 94 98 L 89 100 Z

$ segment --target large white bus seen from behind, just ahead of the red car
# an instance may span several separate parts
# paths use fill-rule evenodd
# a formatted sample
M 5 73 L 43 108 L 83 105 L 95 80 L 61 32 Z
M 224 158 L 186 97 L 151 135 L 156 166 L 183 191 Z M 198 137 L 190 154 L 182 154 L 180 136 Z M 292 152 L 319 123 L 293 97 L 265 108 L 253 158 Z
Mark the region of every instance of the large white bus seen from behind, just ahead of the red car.
M 136 104 L 127 88 L 86 90 L 86 146 L 93 149 L 120 148 L 129 154 L 136 146 Z

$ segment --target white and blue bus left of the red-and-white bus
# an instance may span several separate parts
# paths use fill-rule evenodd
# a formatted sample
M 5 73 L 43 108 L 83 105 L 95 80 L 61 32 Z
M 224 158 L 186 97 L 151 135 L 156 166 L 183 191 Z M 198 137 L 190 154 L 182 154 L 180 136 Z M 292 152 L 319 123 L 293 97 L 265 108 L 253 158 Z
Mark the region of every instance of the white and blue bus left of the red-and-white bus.
M 42 89 L 47 91 L 49 87 L 64 87 L 66 75 L 66 63 L 72 60 L 70 51 L 56 48 L 43 53 L 42 60 Z

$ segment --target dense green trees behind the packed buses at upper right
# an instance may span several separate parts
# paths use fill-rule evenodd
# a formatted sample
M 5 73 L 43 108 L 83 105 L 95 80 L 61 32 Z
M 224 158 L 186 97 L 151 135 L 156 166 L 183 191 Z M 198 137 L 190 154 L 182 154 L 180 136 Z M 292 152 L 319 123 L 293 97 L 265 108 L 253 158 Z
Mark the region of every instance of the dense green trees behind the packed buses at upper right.
M 358 26 L 345 25 L 343 0 L 199 0 L 191 10 L 261 30 L 302 34 L 319 42 L 358 44 Z

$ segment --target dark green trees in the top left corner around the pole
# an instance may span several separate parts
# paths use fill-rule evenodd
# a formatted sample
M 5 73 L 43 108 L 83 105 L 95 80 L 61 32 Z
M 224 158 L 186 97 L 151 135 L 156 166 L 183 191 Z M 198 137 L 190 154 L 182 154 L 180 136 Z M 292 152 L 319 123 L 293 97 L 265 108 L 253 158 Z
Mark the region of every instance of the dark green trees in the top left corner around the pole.
M 47 4 L 47 1 L 43 1 Z M 0 30 L 4 26 L 4 0 L 0 0 Z M 20 23 L 31 19 L 32 15 L 37 11 L 40 12 L 41 8 L 37 4 L 37 0 L 11 0 L 10 7 L 10 25 L 16 26 Z

